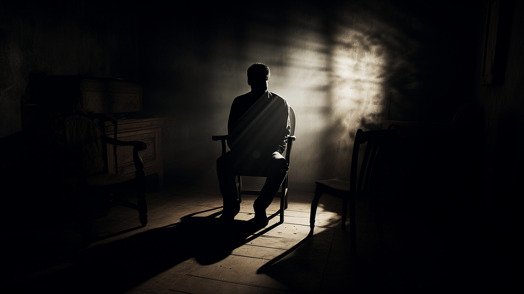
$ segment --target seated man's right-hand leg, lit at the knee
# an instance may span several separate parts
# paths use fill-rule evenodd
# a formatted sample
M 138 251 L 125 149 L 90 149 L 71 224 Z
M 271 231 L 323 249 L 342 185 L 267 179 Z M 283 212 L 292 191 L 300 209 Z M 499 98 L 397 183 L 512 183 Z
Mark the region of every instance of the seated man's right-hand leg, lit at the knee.
M 288 172 L 288 164 L 286 158 L 280 153 L 275 152 L 272 154 L 271 159 L 267 162 L 267 170 L 269 171 L 266 183 L 260 195 L 258 195 L 253 209 L 255 210 L 255 219 L 260 221 L 267 221 L 266 208 L 271 204 L 275 194 L 280 188 L 280 184 L 286 177 Z

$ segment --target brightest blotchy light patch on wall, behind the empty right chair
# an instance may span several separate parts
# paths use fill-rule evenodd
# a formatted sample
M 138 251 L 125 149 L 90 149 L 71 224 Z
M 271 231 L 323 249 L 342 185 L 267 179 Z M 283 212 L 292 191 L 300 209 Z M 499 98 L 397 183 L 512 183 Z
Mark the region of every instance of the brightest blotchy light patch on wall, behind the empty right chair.
M 330 79 L 323 177 L 348 175 L 354 134 L 359 128 L 380 128 L 383 116 L 383 47 L 363 31 L 337 27 L 330 56 Z

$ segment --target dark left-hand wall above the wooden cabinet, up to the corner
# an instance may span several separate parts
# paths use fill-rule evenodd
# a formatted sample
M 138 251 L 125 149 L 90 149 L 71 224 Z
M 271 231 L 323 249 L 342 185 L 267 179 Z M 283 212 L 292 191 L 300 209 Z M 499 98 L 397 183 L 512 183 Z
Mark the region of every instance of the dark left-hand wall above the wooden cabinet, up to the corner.
M 135 19 L 134 7 L 116 3 L 0 3 L 0 137 L 22 128 L 29 73 L 136 81 Z

